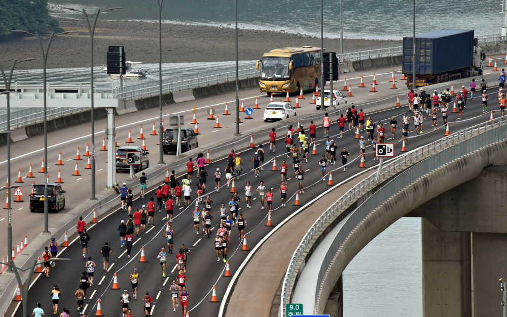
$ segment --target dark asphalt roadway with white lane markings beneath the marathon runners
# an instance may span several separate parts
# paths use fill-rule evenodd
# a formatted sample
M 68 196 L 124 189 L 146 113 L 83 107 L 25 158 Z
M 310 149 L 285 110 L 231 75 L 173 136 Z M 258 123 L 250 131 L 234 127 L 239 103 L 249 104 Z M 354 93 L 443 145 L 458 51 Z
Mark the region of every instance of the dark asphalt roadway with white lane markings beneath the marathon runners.
M 500 114 L 498 110 L 498 101 L 496 99 L 496 95 L 493 92 L 493 88 L 489 89 L 490 100 L 489 100 L 489 110 L 495 110 L 494 116 L 498 117 Z M 398 130 L 396 131 L 396 140 L 395 143 L 395 153 L 396 155 L 401 154 L 401 117 L 405 111 L 408 109 L 406 107 L 402 108 L 392 108 L 386 111 L 382 111 L 374 114 L 367 114 L 367 116 L 371 115 L 375 122 L 382 121 L 388 122 L 391 116 L 396 116 L 396 120 L 399 122 Z M 452 104 L 451 108 L 452 110 Z M 472 126 L 474 124 L 478 124 L 480 122 L 485 122 L 489 119 L 489 113 L 481 112 L 482 108 L 480 105 L 480 100 L 476 101 L 468 101 L 467 109 L 463 113 L 462 116 L 458 116 L 456 113 L 449 114 L 449 124 L 451 132 L 463 129 L 468 126 Z M 434 140 L 438 140 L 444 136 L 444 128 L 442 124 L 442 117 L 438 119 L 437 130 L 433 131 L 433 127 L 431 125 L 431 119 L 425 118 L 424 122 L 424 133 L 415 135 L 413 122 L 410 124 L 411 132 L 409 134 L 409 142 L 407 144 L 407 150 L 414 149 L 416 147 L 422 146 L 426 143 L 429 143 Z M 344 133 L 343 140 L 339 140 L 337 138 L 338 125 L 334 123 L 331 127 L 331 137 L 334 139 L 338 145 L 338 152 L 341 151 L 342 147 L 347 147 L 348 152 L 350 153 L 349 157 L 349 165 L 347 168 L 347 172 L 343 172 L 341 167 L 341 160 L 336 165 L 329 165 L 328 171 L 330 169 L 334 169 L 333 171 L 333 181 L 334 183 L 338 183 L 346 177 L 350 177 L 352 174 L 359 172 L 361 169 L 359 166 L 359 147 L 358 140 L 355 139 L 355 133 L 352 131 L 347 131 Z M 366 133 L 361 131 L 361 135 L 366 137 Z M 322 176 L 320 172 L 320 167 L 317 162 L 321 158 L 321 154 L 323 154 L 325 142 L 323 142 L 323 130 L 319 128 L 317 130 L 317 152 L 318 155 L 310 155 L 308 163 L 303 162 L 303 167 L 305 170 L 304 177 L 304 186 L 305 186 L 305 194 L 300 195 L 301 204 L 304 205 L 306 202 L 311 200 L 313 197 L 320 194 L 322 191 L 328 189 L 328 176 L 326 177 L 325 182 L 322 181 Z M 386 141 L 385 142 L 393 142 L 390 140 L 391 134 L 388 129 L 386 133 Z M 320 140 L 319 140 L 320 139 Z M 245 228 L 245 233 L 247 235 L 247 243 L 248 247 L 251 249 L 266 233 L 268 233 L 272 228 L 265 227 L 266 219 L 267 219 L 267 207 L 266 209 L 260 208 L 259 199 L 253 200 L 252 208 L 245 208 L 244 202 L 244 191 L 243 187 L 245 182 L 248 180 L 253 188 L 256 188 L 259 185 L 260 180 L 264 180 L 266 187 L 273 188 L 274 192 L 274 202 L 273 202 L 273 211 L 272 211 L 272 221 L 273 224 L 279 223 L 284 217 L 288 214 L 294 212 L 299 208 L 299 206 L 293 206 L 295 201 L 295 191 L 297 187 L 297 183 L 294 178 L 294 174 L 291 172 L 292 169 L 289 165 L 289 172 L 287 177 L 291 178 L 288 180 L 288 195 L 290 197 L 286 203 L 286 207 L 280 206 L 280 196 L 278 194 L 278 188 L 280 186 L 280 174 L 279 172 L 271 171 L 272 162 L 269 160 L 273 158 L 274 154 L 277 155 L 276 162 L 277 167 L 281 164 L 283 159 L 287 160 L 287 163 L 291 162 L 291 160 L 287 159 L 284 155 L 285 149 L 282 140 L 278 140 L 277 143 L 277 151 L 276 153 L 269 153 L 269 146 L 265 145 L 265 162 L 267 164 L 264 166 L 264 171 L 261 171 L 260 178 L 255 178 L 253 176 L 253 172 L 250 171 L 252 168 L 252 164 L 250 163 L 253 150 L 246 149 L 241 152 L 241 157 L 243 159 L 243 166 L 245 170 L 243 175 L 241 175 L 240 179 L 236 180 L 236 190 L 239 192 L 239 196 L 241 198 L 239 212 L 243 212 L 243 215 L 248 223 L 248 227 Z M 235 149 L 236 152 L 239 149 Z M 310 150 L 311 153 L 311 150 Z M 366 166 L 370 167 L 377 164 L 377 161 L 373 161 L 373 154 L 371 146 L 367 149 L 366 156 Z M 206 170 L 209 174 L 212 174 L 216 168 L 220 168 L 223 170 L 225 168 L 226 161 L 220 160 L 213 162 L 210 165 L 206 166 Z M 180 178 L 178 178 L 180 179 Z M 202 231 L 199 232 L 199 235 L 196 235 L 196 232 L 193 228 L 193 221 L 191 218 L 191 212 L 194 209 L 195 203 L 195 180 L 192 182 L 193 193 L 192 199 L 193 202 L 190 204 L 189 208 L 175 208 L 175 217 L 174 222 L 172 222 L 173 230 L 175 231 L 175 240 L 174 240 L 174 250 L 177 252 L 177 249 L 181 246 L 182 243 L 190 249 L 190 254 L 188 256 L 187 261 L 187 277 L 188 281 L 186 283 L 187 290 L 190 294 L 189 297 L 189 309 L 191 316 L 214 316 L 218 313 L 219 304 L 209 302 L 211 300 L 211 289 L 213 285 L 216 287 L 216 294 L 218 300 L 222 300 L 222 296 L 225 292 L 225 289 L 229 283 L 228 278 L 223 277 L 225 270 L 225 263 L 221 261 L 216 261 L 216 255 L 213 245 L 213 237 L 214 234 L 208 239 L 205 235 L 203 235 Z M 213 177 L 209 177 L 207 180 L 207 190 L 206 194 L 211 195 L 211 199 L 213 200 L 212 206 L 212 215 L 214 220 L 212 222 L 212 227 L 214 228 L 212 233 L 216 232 L 218 228 L 219 213 L 218 207 L 221 203 L 227 203 L 230 200 L 231 193 L 227 190 L 226 182 L 222 182 L 222 188 L 219 193 L 213 190 L 214 182 Z M 140 208 L 141 205 L 146 204 L 149 201 L 149 198 L 153 196 L 153 192 L 150 192 L 146 195 L 144 199 L 136 199 L 134 201 L 133 207 Z M 257 197 L 257 195 L 253 195 L 252 197 Z M 338 197 L 337 197 L 338 198 Z M 202 204 L 200 205 L 202 208 Z M 311 207 L 310 207 L 311 208 Z M 303 211 L 304 212 L 304 211 Z M 156 258 L 157 253 L 160 251 L 162 246 L 165 246 L 165 238 L 163 237 L 166 220 L 164 219 L 165 213 L 155 214 L 155 222 L 156 225 L 154 227 L 148 226 L 148 231 L 145 234 L 141 234 L 140 237 L 134 236 L 135 245 L 132 248 L 132 258 L 130 260 L 127 259 L 126 255 L 123 254 L 125 249 L 120 248 L 120 239 L 118 234 L 118 225 L 122 219 L 127 219 L 127 214 L 121 211 L 112 211 L 111 214 L 105 216 L 100 219 L 99 223 L 93 225 L 89 230 L 89 235 L 91 237 L 88 248 L 88 255 L 93 257 L 93 260 L 97 264 L 97 268 L 95 269 L 95 284 L 90 287 L 87 291 L 87 298 L 85 300 L 85 313 L 87 315 L 95 314 L 96 302 L 97 298 L 101 299 L 101 308 L 102 313 L 106 316 L 112 315 L 121 315 L 121 303 L 120 303 L 120 294 L 122 290 L 125 288 L 131 293 L 129 275 L 132 273 L 134 268 L 138 269 L 139 273 L 139 288 L 138 288 L 138 299 L 137 301 L 132 301 L 130 307 L 132 308 L 134 316 L 141 316 L 144 314 L 143 305 L 142 305 L 142 296 L 144 293 L 149 292 L 150 295 L 154 299 L 154 307 L 152 314 L 153 315 L 177 315 L 182 314 L 181 310 L 176 310 L 176 312 L 172 312 L 172 304 L 170 300 L 170 292 L 169 286 L 171 284 L 172 279 L 174 279 L 177 275 L 176 270 L 173 270 L 175 266 L 175 255 L 169 254 L 167 258 L 166 264 L 166 278 L 162 278 L 162 272 L 160 269 L 159 261 Z M 103 246 L 104 242 L 109 242 L 110 246 L 113 249 L 113 256 L 111 257 L 111 268 L 108 272 L 105 272 L 102 269 L 101 263 L 101 254 L 100 249 Z M 238 239 L 238 230 L 237 227 L 233 227 L 232 230 L 232 238 L 231 244 L 228 247 L 228 259 L 231 267 L 231 273 L 234 274 L 236 268 L 240 265 L 241 261 L 245 258 L 248 251 L 241 251 L 241 242 Z M 146 257 L 149 262 L 139 263 L 140 257 L 140 249 L 141 246 L 144 246 L 144 250 L 146 252 Z M 51 298 L 49 296 L 50 291 L 53 288 L 53 285 L 58 285 L 61 290 L 60 297 L 60 309 L 58 313 L 61 312 L 61 307 L 68 308 L 71 313 L 76 313 L 76 299 L 74 297 L 74 292 L 78 289 L 80 283 L 79 278 L 81 273 L 85 270 L 85 260 L 81 257 L 81 247 L 79 246 L 79 242 L 73 242 L 69 248 L 66 248 L 60 252 L 59 257 L 71 258 L 71 261 L 61 261 L 57 264 L 56 268 L 51 269 L 51 274 L 49 278 L 40 277 L 37 281 L 33 282 L 32 287 L 29 291 L 28 298 L 28 307 L 31 309 L 35 307 L 35 303 L 41 302 L 42 308 L 46 311 L 46 314 L 51 314 Z M 276 256 L 276 254 L 273 254 Z M 259 278 L 262 279 L 263 270 L 269 270 L 269 267 L 260 267 L 259 268 Z M 114 273 L 117 273 L 119 287 L 121 290 L 111 290 Z M 279 281 L 266 281 L 266 283 L 279 283 Z M 248 298 L 244 299 L 245 301 Z M 270 303 L 259 303 L 259 304 L 270 304 Z M 13 304 L 15 305 L 15 304 Z M 18 309 L 15 316 L 21 317 L 21 310 Z

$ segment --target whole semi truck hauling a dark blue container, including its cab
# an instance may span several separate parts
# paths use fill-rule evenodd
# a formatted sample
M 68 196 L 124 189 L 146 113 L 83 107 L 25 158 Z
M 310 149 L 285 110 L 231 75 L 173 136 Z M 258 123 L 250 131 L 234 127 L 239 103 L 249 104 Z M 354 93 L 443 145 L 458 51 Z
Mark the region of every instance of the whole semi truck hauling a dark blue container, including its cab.
M 403 73 L 412 87 L 412 36 L 403 38 Z M 426 86 L 482 74 L 480 48 L 474 30 L 445 29 L 416 34 L 416 86 Z

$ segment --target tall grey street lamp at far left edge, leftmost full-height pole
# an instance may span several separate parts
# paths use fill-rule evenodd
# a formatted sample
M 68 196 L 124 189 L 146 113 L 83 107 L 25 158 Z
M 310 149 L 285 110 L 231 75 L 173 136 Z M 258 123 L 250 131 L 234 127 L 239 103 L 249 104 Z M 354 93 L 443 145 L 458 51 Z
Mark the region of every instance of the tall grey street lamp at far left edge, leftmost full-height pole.
M 16 67 L 17 64 L 22 62 L 28 62 L 33 60 L 32 58 L 27 58 L 22 61 L 14 60 L 11 65 L 4 66 L 0 64 L 0 72 L 2 72 L 2 78 L 4 79 L 4 85 L 5 85 L 5 93 L 7 96 L 7 184 L 9 187 L 12 187 L 11 184 L 11 96 L 9 93 L 11 92 L 11 82 L 12 82 L 12 74 L 14 73 L 14 67 Z M 4 67 L 9 69 L 9 76 L 6 76 Z M 7 204 L 8 204 L 8 210 L 7 210 L 7 261 L 10 262 L 12 260 L 12 222 L 11 222 L 11 191 L 9 188 L 7 189 Z M 9 268 L 11 269 L 11 268 Z

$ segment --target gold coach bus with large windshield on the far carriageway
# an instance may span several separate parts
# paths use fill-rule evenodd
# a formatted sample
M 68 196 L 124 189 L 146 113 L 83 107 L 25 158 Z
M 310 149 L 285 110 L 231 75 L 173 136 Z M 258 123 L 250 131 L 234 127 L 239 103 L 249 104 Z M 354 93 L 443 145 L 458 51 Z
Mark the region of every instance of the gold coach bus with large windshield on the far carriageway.
M 314 90 L 320 78 L 320 48 L 282 48 L 262 55 L 256 68 L 261 67 L 261 93 L 299 93 Z

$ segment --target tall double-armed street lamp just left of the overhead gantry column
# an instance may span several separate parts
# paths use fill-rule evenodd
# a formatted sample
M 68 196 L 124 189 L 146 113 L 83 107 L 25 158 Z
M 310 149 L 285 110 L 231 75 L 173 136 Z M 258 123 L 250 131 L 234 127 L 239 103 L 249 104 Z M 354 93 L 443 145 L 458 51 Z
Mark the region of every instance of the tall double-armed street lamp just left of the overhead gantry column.
M 92 186 L 91 186 L 91 197 L 90 199 L 96 200 L 95 197 L 95 122 L 94 122 L 94 106 L 93 106 L 93 36 L 95 35 L 95 25 L 97 24 L 98 15 L 101 12 L 105 11 L 113 11 L 115 9 L 122 9 L 122 8 L 109 8 L 109 9 L 98 9 L 97 13 L 95 14 L 88 14 L 86 13 L 86 10 L 76 10 L 73 8 L 64 8 L 70 11 L 76 11 L 81 12 L 86 19 L 86 22 L 88 23 L 88 31 L 90 33 L 90 42 L 91 42 L 91 50 L 90 50 L 90 99 L 91 99 L 91 111 L 90 111 L 90 120 L 92 123 L 92 158 L 91 158 L 91 165 L 92 165 Z M 94 17 L 93 25 L 90 24 L 90 17 Z M 121 76 L 121 74 L 120 74 Z

